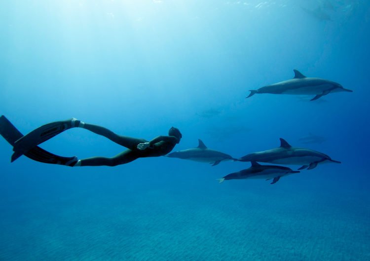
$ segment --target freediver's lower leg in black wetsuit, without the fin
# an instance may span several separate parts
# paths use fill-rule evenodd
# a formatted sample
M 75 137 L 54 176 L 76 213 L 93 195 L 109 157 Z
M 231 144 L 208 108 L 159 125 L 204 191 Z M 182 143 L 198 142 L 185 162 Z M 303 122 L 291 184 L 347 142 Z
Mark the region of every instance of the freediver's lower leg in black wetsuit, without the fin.
M 79 160 L 73 166 L 116 166 L 132 162 L 139 158 L 135 151 L 125 150 L 112 158 L 92 157 Z

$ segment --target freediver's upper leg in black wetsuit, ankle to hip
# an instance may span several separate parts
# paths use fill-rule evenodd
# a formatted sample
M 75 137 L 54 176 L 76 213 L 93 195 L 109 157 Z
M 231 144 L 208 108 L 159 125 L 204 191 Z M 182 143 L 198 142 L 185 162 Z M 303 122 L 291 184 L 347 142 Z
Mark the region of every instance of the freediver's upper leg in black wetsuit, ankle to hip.
M 145 140 L 145 139 L 139 139 L 139 138 L 132 138 L 132 137 L 127 137 L 127 136 L 117 135 L 113 131 L 108 130 L 107 128 L 104 128 L 104 127 L 101 127 L 101 126 L 98 126 L 98 125 L 87 124 L 87 123 L 83 123 L 81 125 L 82 125 L 82 126 L 80 126 L 81 128 L 86 129 L 86 130 L 90 130 L 90 131 L 92 131 L 96 134 L 105 136 L 105 137 L 109 138 L 111 141 L 113 141 L 113 142 L 115 142 L 115 143 L 117 143 L 121 146 L 124 146 L 124 147 L 126 147 L 130 150 L 136 150 L 137 149 L 136 146 L 139 143 L 147 142 L 147 140 Z

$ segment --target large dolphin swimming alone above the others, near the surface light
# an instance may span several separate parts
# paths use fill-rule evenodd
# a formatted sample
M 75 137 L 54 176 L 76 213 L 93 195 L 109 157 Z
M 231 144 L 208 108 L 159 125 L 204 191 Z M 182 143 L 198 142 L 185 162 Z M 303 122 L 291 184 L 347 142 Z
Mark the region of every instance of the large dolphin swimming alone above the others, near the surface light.
M 311 99 L 316 100 L 330 93 L 353 92 L 352 90 L 344 89 L 343 86 L 336 82 L 321 78 L 309 78 L 297 70 L 294 70 L 294 73 L 293 79 L 267 85 L 258 90 L 250 90 L 251 93 L 246 98 L 255 94 L 293 94 L 316 95 Z

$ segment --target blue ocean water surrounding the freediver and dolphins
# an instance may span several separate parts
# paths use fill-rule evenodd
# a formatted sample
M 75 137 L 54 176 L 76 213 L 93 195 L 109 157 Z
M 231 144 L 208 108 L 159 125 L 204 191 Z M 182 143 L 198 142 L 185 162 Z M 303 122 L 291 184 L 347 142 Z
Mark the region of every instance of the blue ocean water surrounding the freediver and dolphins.
M 174 150 L 200 138 L 239 158 L 282 137 L 342 162 L 219 184 L 250 163 L 10 163 L 0 138 L 0 260 L 370 260 L 369 1 L 0 6 L 0 114 L 22 133 L 76 117 L 148 140 L 175 126 Z M 354 92 L 245 98 L 293 69 Z M 309 133 L 325 141 L 303 144 Z M 41 147 L 79 159 L 124 149 L 77 128 Z

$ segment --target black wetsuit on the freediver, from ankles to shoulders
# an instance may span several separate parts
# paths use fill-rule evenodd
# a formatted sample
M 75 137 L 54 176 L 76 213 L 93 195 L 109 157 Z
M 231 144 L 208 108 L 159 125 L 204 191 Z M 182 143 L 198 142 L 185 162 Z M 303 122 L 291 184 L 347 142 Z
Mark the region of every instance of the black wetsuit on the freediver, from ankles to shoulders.
M 126 147 L 127 150 L 112 158 L 93 157 L 82 159 L 81 166 L 116 166 L 132 162 L 138 158 L 164 156 L 171 152 L 175 145 L 179 143 L 178 138 L 175 136 L 158 136 L 149 141 L 148 148 L 145 150 L 139 150 L 137 148 L 138 144 L 148 142 L 148 140 L 117 135 L 111 130 L 92 124 L 85 123 L 83 128 L 105 136 L 111 141 Z

